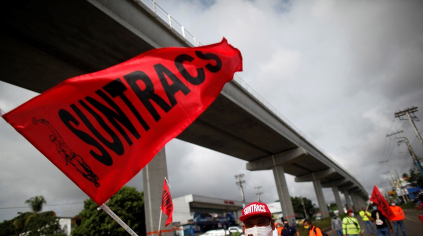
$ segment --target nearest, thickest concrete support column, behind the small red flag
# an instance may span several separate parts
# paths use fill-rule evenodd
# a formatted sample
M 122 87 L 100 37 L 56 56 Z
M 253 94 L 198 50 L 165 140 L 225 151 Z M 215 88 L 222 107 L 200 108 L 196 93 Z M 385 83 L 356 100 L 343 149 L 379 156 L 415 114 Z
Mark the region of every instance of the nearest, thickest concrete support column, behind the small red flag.
M 157 231 L 158 229 L 164 177 L 167 177 L 165 148 L 161 149 L 150 163 L 143 168 L 144 208 L 147 234 Z M 169 181 L 172 182 L 171 179 Z M 168 225 L 166 228 L 164 227 L 166 219 L 167 215 L 162 214 L 161 230 L 172 229 L 172 224 Z M 173 232 L 163 232 L 162 236 L 173 236 Z

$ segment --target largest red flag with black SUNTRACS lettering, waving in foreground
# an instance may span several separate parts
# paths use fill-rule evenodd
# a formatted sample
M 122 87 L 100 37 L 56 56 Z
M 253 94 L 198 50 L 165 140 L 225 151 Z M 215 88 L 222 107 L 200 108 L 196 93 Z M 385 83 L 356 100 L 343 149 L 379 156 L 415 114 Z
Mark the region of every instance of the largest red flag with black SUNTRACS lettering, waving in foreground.
M 190 125 L 236 71 L 220 43 L 153 49 L 67 79 L 3 118 L 101 205 Z

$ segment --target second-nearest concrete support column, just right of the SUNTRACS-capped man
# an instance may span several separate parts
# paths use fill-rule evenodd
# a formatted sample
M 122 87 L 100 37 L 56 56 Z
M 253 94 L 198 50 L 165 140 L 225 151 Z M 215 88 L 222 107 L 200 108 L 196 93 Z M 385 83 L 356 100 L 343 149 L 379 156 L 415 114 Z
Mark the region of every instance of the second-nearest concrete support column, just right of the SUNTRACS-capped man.
M 272 170 L 280 206 L 282 207 L 283 218 L 291 222 L 291 219 L 295 219 L 295 213 L 294 207 L 292 207 L 291 196 L 289 196 L 288 185 L 286 184 L 285 170 L 281 165 L 274 166 Z

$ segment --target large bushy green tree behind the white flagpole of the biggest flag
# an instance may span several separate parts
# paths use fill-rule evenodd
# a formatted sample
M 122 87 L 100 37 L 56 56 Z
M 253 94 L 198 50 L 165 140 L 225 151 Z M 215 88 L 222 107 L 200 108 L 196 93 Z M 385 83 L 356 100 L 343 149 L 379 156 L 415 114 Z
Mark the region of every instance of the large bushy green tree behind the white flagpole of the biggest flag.
M 123 186 L 107 203 L 107 206 L 138 235 L 146 235 L 144 196 L 133 187 Z M 73 236 L 122 235 L 128 233 L 104 210 L 97 210 L 91 199 L 84 202 L 79 213 L 81 225 L 72 231 Z

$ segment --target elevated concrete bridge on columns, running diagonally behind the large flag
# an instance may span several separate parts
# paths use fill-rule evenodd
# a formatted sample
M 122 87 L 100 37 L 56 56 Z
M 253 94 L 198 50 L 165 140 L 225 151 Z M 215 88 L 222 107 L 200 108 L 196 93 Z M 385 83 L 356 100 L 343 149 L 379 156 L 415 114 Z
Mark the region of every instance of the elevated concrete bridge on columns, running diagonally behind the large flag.
M 151 0 L 10 1 L 1 11 L 0 79 L 36 92 L 153 48 L 200 44 Z M 348 207 L 365 205 L 368 193 L 355 177 L 241 84 L 237 78 L 226 84 L 178 139 L 245 160 L 247 170 L 273 170 L 285 218 L 294 215 L 285 173 L 313 182 L 324 216 L 323 187 L 332 188 L 340 209 L 339 191 Z M 143 175 L 151 232 L 167 176 L 164 149 Z

